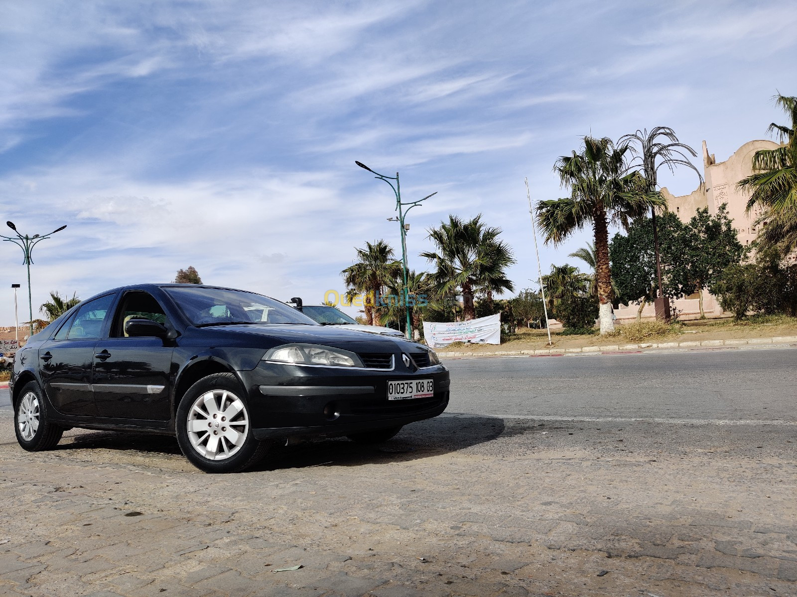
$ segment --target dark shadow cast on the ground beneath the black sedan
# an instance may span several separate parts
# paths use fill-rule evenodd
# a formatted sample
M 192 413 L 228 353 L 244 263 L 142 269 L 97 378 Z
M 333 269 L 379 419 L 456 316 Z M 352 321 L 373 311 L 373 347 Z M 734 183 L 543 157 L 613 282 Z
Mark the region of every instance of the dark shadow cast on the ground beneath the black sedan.
M 249 470 L 284 470 L 312 466 L 360 466 L 406 462 L 445 455 L 496 439 L 505 431 L 504 420 L 491 416 L 450 416 L 406 425 L 387 442 L 363 445 L 340 438 L 309 439 L 285 446 L 276 443 L 265 458 Z M 74 430 L 56 448 L 59 451 L 104 449 L 182 458 L 177 439 L 120 431 Z M 171 459 L 171 458 L 170 458 Z M 149 462 L 157 466 L 155 460 Z

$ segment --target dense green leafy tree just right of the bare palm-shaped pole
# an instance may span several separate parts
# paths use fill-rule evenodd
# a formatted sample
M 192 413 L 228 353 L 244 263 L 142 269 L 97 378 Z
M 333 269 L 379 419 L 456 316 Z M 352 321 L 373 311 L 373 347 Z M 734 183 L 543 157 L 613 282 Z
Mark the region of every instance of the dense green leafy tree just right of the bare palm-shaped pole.
M 702 289 L 714 291 L 714 286 L 726 267 L 739 263 L 744 247 L 736 236 L 732 220 L 728 217 L 728 205 L 722 204 L 717 214 L 709 214 L 708 208 L 697 209 L 683 230 L 682 246 L 685 251 L 678 256 L 670 256 L 670 267 L 676 270 L 676 277 L 688 280 L 687 285 L 700 291 L 700 316 L 705 318 Z

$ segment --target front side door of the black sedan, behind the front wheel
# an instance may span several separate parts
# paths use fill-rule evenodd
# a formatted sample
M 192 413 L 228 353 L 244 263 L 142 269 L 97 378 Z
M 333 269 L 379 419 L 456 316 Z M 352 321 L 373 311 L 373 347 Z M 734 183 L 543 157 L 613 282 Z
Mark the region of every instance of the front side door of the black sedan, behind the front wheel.
M 162 338 L 130 338 L 124 324 L 132 318 L 167 324 L 166 312 L 144 291 L 121 297 L 108 337 L 95 346 L 92 385 L 100 416 L 115 419 L 171 419 L 171 357 Z

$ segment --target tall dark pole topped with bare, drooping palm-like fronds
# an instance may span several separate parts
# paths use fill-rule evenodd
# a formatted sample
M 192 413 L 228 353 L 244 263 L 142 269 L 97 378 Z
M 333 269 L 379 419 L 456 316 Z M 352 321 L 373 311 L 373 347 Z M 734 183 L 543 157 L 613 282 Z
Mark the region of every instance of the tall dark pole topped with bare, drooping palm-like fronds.
M 658 139 L 662 138 L 662 141 Z M 641 190 L 646 193 L 655 193 L 658 186 L 658 170 L 662 166 L 666 166 L 670 172 L 675 171 L 676 166 L 686 166 L 691 168 L 697 173 L 697 178 L 703 181 L 703 176 L 700 170 L 689 162 L 689 155 L 697 158 L 697 151 L 692 147 L 681 143 L 675 131 L 670 127 L 654 127 L 650 133 L 647 129 L 643 131 L 637 130 L 633 135 L 623 135 L 620 138 L 620 143 L 630 146 L 630 150 L 634 153 L 634 159 L 631 160 L 630 166 L 636 168 L 642 174 L 642 188 Z M 637 149 L 636 146 L 639 146 Z M 689 154 L 689 155 L 688 155 Z M 666 209 L 666 203 L 665 203 Z M 641 214 L 640 214 L 641 215 Z M 664 297 L 664 290 L 662 288 L 662 260 L 659 258 L 658 252 L 658 233 L 656 232 L 656 209 L 650 209 L 650 220 L 653 226 L 653 244 L 654 254 L 656 257 L 656 277 L 658 279 L 658 296 Z M 627 222 L 624 223 L 628 228 Z M 669 302 L 664 302 L 664 315 L 669 319 Z

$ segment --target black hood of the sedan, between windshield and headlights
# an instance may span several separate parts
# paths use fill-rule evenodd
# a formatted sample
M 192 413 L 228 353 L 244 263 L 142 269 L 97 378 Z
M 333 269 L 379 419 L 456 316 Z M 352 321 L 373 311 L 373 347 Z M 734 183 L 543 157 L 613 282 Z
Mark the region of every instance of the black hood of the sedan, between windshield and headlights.
M 311 326 L 306 324 L 281 324 L 278 326 L 243 324 L 224 326 L 224 330 L 261 335 L 284 343 L 308 342 L 337 346 L 355 352 L 395 353 L 397 348 L 404 351 L 417 351 L 419 348 L 414 342 L 406 341 L 402 337 L 371 334 L 359 330 L 360 327 L 366 326 L 351 326 L 349 329 L 347 326 Z

